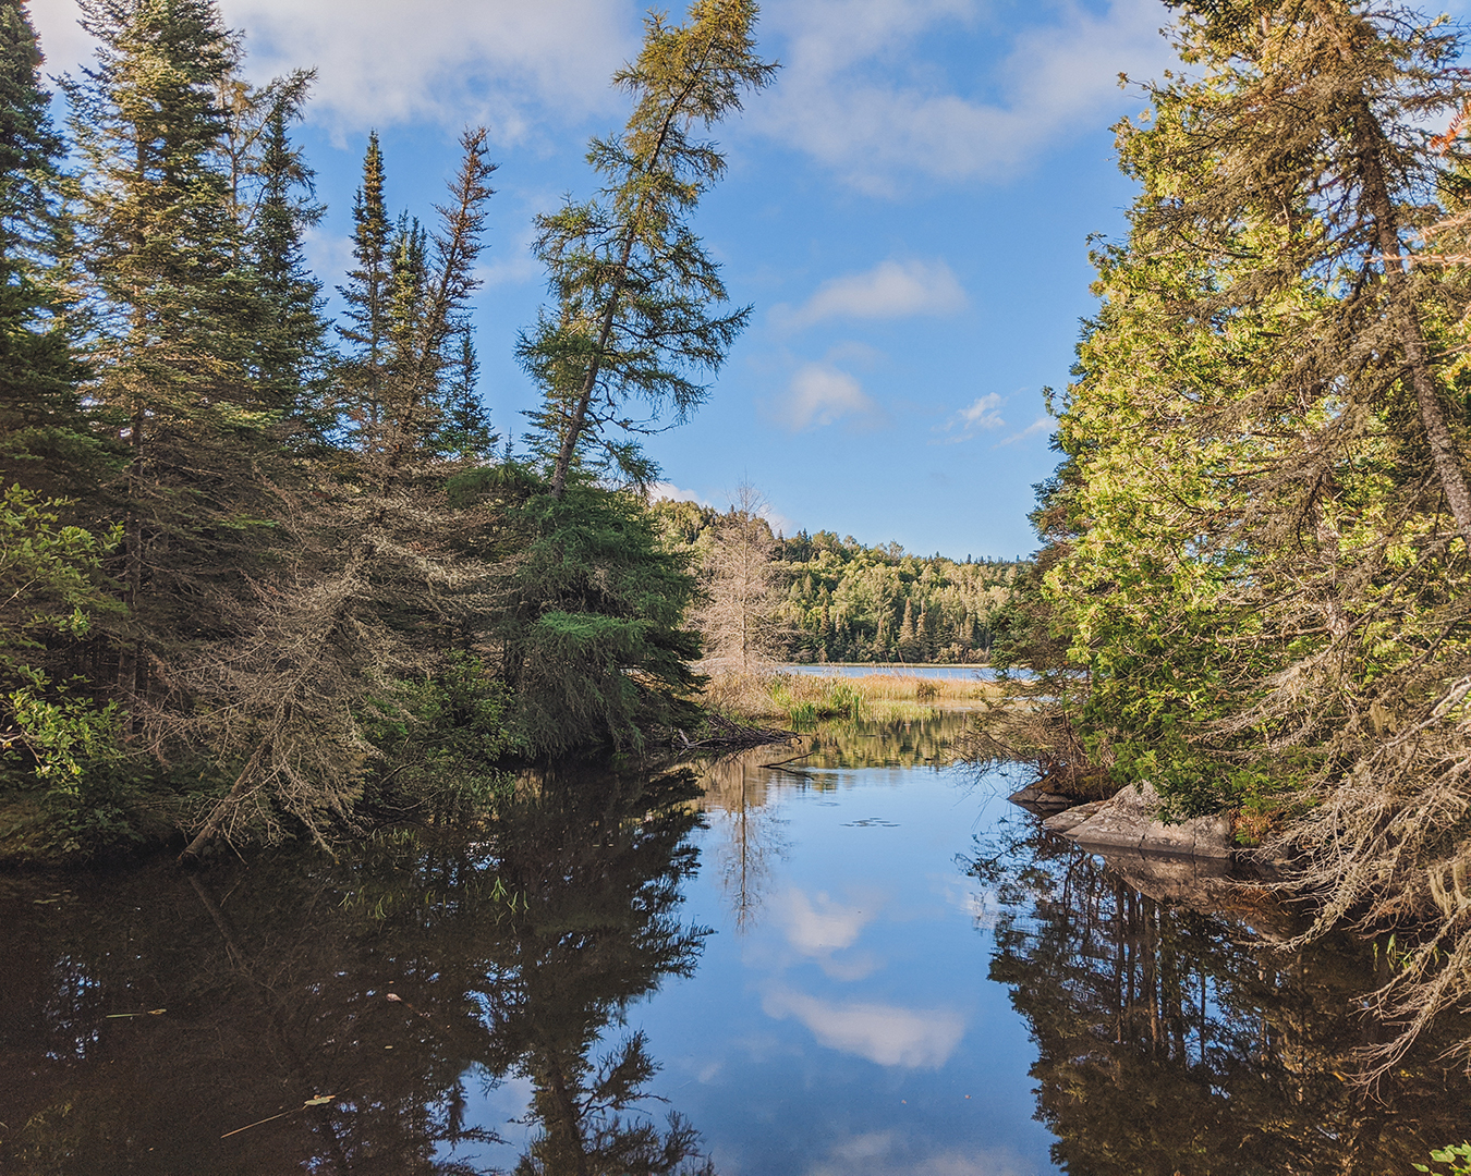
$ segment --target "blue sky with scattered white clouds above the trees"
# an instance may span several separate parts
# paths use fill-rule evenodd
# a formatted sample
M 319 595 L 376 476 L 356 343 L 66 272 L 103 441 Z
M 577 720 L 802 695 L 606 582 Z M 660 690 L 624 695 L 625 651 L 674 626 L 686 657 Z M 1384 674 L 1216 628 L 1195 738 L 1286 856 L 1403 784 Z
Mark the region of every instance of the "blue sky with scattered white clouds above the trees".
M 593 134 L 638 51 L 627 0 L 222 0 L 247 74 L 315 68 L 296 138 L 328 215 L 307 254 L 328 290 L 352 260 L 369 129 L 390 207 L 432 218 L 468 125 L 499 163 L 475 328 L 494 426 L 535 390 L 518 331 L 546 300 L 534 218 L 593 194 Z M 91 53 L 74 0 L 32 0 L 50 75 Z M 671 16 L 683 12 L 674 9 Z M 1056 465 L 1043 388 L 1068 381 L 1093 309 L 1089 237 L 1133 198 L 1111 126 L 1172 54 L 1161 0 L 766 0 L 777 82 L 716 131 L 730 171 L 694 228 L 753 307 L 709 401 L 652 438 L 668 492 L 724 509 L 744 481 L 787 534 L 918 554 L 1037 544 L 1033 484 Z

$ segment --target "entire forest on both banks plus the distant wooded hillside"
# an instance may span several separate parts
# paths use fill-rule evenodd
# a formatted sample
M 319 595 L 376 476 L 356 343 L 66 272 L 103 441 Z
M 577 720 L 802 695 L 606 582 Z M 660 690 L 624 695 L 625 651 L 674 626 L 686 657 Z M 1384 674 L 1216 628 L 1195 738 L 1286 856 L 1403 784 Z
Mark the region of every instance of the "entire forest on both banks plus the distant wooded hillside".
M 990 656 L 999 756 L 1233 813 L 1311 935 L 1402 929 L 1393 1066 L 1471 1000 L 1465 38 L 1353 0 L 1168 9 L 1183 65 L 1131 82 L 1128 229 L 1049 394 L 1041 547 L 959 563 L 649 503 L 641 438 L 752 315 L 694 229 L 708 135 L 777 68 L 750 0 L 647 19 L 593 194 L 537 218 L 525 437 L 478 395 L 484 129 L 418 213 L 369 137 L 334 322 L 309 71 L 246 81 L 213 0 L 82 0 L 100 50 L 53 119 L 0 0 L 0 857 L 452 822 L 510 766 L 693 726 L 712 650 Z

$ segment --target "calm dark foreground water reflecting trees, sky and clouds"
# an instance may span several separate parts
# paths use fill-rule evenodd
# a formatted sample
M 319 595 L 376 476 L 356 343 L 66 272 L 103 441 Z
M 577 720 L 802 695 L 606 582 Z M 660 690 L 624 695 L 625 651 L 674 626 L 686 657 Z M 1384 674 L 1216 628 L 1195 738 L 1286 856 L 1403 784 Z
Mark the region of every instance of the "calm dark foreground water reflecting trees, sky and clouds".
M 0 1172 L 1409 1176 L 1471 1130 L 1433 1061 L 1340 1078 L 1364 945 L 1136 891 L 946 767 L 964 722 L 0 881 Z

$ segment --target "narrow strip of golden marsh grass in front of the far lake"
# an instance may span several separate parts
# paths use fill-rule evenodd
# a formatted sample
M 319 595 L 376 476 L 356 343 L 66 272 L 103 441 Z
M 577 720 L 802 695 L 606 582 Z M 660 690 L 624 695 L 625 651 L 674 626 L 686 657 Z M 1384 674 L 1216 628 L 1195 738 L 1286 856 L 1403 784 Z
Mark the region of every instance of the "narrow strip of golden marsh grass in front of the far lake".
M 993 697 L 991 682 L 912 673 L 715 673 L 702 701 L 733 719 L 781 719 L 800 731 L 819 719 L 918 719 L 978 707 Z

